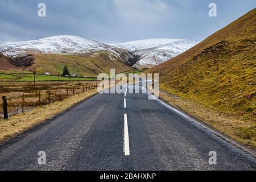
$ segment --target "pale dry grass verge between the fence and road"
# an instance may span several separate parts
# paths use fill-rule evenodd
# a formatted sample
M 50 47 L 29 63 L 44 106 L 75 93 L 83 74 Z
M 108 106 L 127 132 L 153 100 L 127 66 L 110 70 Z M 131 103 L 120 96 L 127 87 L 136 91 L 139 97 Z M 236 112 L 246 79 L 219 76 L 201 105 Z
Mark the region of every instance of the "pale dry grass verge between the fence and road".
M 4 142 L 6 139 L 15 137 L 16 135 L 31 129 L 40 123 L 43 123 L 47 119 L 51 119 L 56 115 L 63 113 L 65 110 L 81 101 L 84 101 L 94 94 L 97 94 L 97 89 L 71 96 L 66 98 L 64 101 L 58 101 L 51 105 L 37 107 L 36 109 L 27 111 L 24 114 L 15 115 L 9 120 L 1 121 L 0 143 Z

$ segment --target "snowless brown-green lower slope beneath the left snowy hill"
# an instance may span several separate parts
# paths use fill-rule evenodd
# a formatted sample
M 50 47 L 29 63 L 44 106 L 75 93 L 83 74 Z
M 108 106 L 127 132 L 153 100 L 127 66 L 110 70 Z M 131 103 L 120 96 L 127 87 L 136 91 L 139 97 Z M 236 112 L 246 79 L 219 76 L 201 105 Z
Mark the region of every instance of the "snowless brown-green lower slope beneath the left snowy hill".
M 79 76 L 97 77 L 100 73 L 109 73 L 110 68 L 115 68 L 116 72 L 125 72 L 132 69 L 130 65 L 119 60 L 117 57 L 110 57 L 109 53 L 105 51 L 79 56 L 43 55 L 42 53 L 35 53 L 34 59 L 34 64 L 26 67 L 25 72 L 32 72 L 35 69 L 36 73 L 39 74 L 49 72 L 51 75 L 58 75 L 63 72 L 63 67 L 67 64 L 71 74 L 75 73 Z M 22 68 L 15 67 L 6 59 L 2 59 L 1 65 L 0 73 L 23 72 Z

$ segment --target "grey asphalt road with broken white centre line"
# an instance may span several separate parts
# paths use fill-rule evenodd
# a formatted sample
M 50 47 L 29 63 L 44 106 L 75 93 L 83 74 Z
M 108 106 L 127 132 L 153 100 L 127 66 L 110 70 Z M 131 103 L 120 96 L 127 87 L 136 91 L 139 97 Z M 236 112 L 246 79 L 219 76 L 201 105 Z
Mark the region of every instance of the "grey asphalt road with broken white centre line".
M 0 170 L 255 169 L 253 156 L 147 94 L 97 94 L 0 147 Z

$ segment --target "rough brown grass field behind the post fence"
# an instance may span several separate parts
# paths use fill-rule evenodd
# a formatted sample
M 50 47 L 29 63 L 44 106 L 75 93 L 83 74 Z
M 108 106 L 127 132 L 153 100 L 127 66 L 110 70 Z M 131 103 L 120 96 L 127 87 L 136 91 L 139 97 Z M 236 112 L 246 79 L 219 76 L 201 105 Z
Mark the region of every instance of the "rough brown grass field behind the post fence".
M 22 112 L 22 97 L 24 94 L 24 110 L 35 109 L 39 105 L 48 104 L 48 90 L 50 90 L 51 103 L 73 96 L 75 94 L 86 92 L 92 89 L 95 81 L 75 81 L 75 82 L 0 82 L 0 98 L 7 96 L 9 115 L 15 115 Z M 91 85 L 91 86 L 90 86 Z M 39 102 L 39 92 L 41 95 Z M 3 118 L 2 101 L 0 102 L 0 119 Z

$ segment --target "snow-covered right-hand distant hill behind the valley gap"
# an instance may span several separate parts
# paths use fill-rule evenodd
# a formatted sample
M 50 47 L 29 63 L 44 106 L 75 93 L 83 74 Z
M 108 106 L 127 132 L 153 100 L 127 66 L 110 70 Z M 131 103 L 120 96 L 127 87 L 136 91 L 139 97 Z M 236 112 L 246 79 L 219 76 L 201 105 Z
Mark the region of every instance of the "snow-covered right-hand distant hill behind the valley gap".
M 128 49 L 138 55 L 135 68 L 150 68 L 187 51 L 197 43 L 183 39 L 146 39 L 110 45 Z

